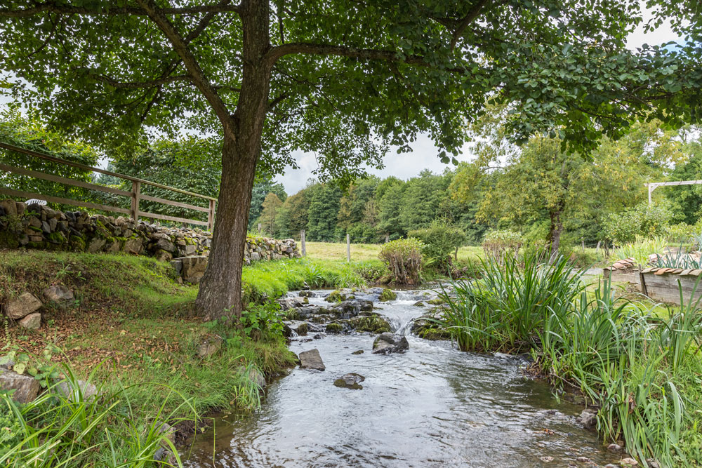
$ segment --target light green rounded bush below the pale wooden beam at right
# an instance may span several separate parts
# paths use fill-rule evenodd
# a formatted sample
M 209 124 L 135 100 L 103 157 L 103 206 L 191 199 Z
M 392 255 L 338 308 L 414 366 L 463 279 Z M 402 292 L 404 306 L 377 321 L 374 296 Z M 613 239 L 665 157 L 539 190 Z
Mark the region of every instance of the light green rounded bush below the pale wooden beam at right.
M 602 220 L 602 229 L 607 239 L 616 245 L 634 242 L 636 236 L 663 236 L 673 213 L 663 204 L 651 205 L 643 202 L 622 213 L 610 213 Z

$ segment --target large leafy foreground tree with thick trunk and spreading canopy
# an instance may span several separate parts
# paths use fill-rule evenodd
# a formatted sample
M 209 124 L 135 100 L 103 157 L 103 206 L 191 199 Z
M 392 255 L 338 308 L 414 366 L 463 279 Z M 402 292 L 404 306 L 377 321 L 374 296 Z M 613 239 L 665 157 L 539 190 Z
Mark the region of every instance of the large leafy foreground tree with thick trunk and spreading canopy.
M 321 175 L 351 180 L 363 162 L 379 164 L 389 145 L 409 150 L 423 132 L 448 161 L 486 97 L 517 102 L 517 140 L 560 127 L 576 148 L 602 131 L 618 135 L 654 101 L 670 123 L 697 119 L 696 66 L 665 48 L 625 48 L 639 5 L 9 0 L 0 69 L 29 84 L 13 88 L 18 98 L 105 146 L 140 129 L 220 138 L 213 247 L 196 302 L 219 316 L 241 309 L 257 165 L 276 173 L 294 149 L 316 152 Z

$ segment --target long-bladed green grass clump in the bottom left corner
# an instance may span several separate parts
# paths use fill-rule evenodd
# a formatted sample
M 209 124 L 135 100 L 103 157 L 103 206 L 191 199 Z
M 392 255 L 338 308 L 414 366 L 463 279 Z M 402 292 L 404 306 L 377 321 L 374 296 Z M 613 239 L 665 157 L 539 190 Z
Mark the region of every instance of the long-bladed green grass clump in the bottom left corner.
M 194 417 L 187 399 L 172 392 L 169 398 L 180 400 L 176 410 L 166 412 L 164 401 L 154 414 L 138 414 L 127 388 L 110 391 L 102 386 L 90 395 L 72 368 L 63 365 L 62 372 L 65 379 L 48 385 L 31 403 L 20 405 L 9 394 L 0 394 L 0 420 L 11 422 L 0 439 L 0 466 L 183 466 L 169 429 L 184 419 L 176 416 L 183 410 Z

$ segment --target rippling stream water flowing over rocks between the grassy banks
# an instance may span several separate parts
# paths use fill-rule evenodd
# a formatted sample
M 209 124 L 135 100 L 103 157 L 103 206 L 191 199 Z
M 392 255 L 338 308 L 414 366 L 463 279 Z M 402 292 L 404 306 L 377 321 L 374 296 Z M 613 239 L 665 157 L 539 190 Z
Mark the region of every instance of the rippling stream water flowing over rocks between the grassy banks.
M 413 306 L 419 293 L 399 292 L 378 312 L 406 333 L 423 312 Z M 374 337 L 293 341 L 298 354 L 319 349 L 326 370 L 296 368 L 269 385 L 255 414 L 218 417 L 183 454 L 186 466 L 592 467 L 618 459 L 578 426 L 581 407 L 524 377 L 522 359 L 410 335 L 408 352 L 376 355 Z M 350 372 L 366 377 L 363 389 L 333 385 Z

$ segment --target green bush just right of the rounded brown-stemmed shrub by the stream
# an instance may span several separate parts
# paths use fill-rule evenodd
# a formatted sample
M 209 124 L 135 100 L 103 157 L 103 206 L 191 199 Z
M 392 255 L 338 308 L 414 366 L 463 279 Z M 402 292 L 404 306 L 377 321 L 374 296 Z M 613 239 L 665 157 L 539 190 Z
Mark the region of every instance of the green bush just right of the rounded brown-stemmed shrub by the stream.
M 410 231 L 407 236 L 424 243 L 422 255 L 425 267 L 434 267 L 439 270 L 451 268 L 451 253 L 457 251 L 466 239 L 463 229 L 439 220 L 432 222 L 424 229 Z

